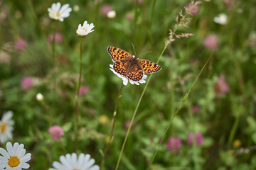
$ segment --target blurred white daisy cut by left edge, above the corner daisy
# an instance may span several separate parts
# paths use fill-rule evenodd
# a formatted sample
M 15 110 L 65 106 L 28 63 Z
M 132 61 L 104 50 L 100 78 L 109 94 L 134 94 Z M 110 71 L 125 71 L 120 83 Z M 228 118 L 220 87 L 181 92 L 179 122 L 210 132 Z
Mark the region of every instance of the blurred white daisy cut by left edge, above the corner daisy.
M 12 132 L 14 131 L 14 120 L 12 116 L 14 113 L 12 111 L 7 111 L 1 118 L 0 121 L 0 143 L 3 144 L 13 137 Z

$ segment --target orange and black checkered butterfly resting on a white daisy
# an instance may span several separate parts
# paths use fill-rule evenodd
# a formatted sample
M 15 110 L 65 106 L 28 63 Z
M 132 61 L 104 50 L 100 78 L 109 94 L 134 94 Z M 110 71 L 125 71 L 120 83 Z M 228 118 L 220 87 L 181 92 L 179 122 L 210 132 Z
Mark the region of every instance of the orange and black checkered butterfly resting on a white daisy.
M 107 52 L 114 62 L 114 71 L 133 81 L 141 80 L 143 74 L 150 74 L 161 70 L 159 64 L 139 59 L 137 56 L 132 56 L 129 52 L 117 47 L 107 47 Z

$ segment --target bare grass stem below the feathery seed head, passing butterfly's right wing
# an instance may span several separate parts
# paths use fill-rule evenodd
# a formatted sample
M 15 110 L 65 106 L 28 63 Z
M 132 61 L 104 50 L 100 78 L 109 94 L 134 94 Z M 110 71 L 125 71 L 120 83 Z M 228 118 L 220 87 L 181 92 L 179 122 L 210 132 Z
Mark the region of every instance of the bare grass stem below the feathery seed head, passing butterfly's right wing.
M 167 46 L 168 46 L 168 44 L 166 44 L 166 45 L 164 46 L 164 50 L 161 52 L 161 55 L 159 56 L 159 59 L 157 60 L 156 64 L 159 62 L 160 58 L 161 58 L 162 55 L 164 54 L 164 51 L 166 50 L 166 47 L 167 47 Z M 140 104 L 141 101 L 142 101 L 142 97 L 144 96 L 144 93 L 145 93 L 145 91 L 146 91 L 146 87 L 148 86 L 149 81 L 150 81 L 152 75 L 153 75 L 153 74 L 151 74 L 151 75 L 149 76 L 148 81 L 146 81 L 146 85 L 145 85 L 145 87 L 144 87 L 144 89 L 143 89 L 143 91 L 142 91 L 142 95 L 140 96 L 139 101 L 138 101 L 138 103 L 137 103 L 137 106 L 136 106 L 136 108 L 135 108 L 134 114 L 132 115 L 132 120 L 131 120 L 131 123 L 129 124 L 129 128 L 128 128 L 128 130 L 127 130 L 127 134 L 125 135 L 124 142 L 123 142 L 123 144 L 122 144 L 122 149 L 121 149 L 121 151 L 120 151 L 120 153 L 119 153 L 119 157 L 118 157 L 118 160 L 117 160 L 117 165 L 116 165 L 116 167 L 115 167 L 115 170 L 117 170 L 118 167 L 119 167 L 119 163 L 120 163 L 120 160 L 121 160 L 121 157 L 122 157 L 122 153 L 124 152 L 124 147 L 125 147 L 125 144 L 126 144 L 126 142 L 127 142 L 127 138 L 128 138 L 128 136 L 129 136 L 129 132 L 130 132 L 130 130 L 131 130 L 131 128 L 132 128 L 132 123 L 134 122 L 134 118 L 135 118 L 135 115 L 136 115 L 136 113 L 137 113 L 137 111 L 138 111 L 139 104 Z

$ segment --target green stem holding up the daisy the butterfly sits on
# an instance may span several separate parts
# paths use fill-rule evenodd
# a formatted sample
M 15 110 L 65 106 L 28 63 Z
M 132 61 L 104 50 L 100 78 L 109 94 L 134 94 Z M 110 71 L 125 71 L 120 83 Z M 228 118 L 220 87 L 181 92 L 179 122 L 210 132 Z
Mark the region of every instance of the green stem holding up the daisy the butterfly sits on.
M 100 163 L 100 169 L 102 168 L 102 165 L 104 164 L 104 160 L 105 160 L 107 151 L 110 148 L 110 144 L 112 142 L 112 137 L 113 137 L 113 132 L 114 132 L 114 123 L 115 123 L 115 119 L 116 119 L 116 115 L 117 115 L 117 106 L 118 106 L 119 98 L 121 97 L 120 94 L 121 94 L 121 91 L 122 91 L 123 87 L 124 87 L 124 84 L 122 84 L 121 88 L 119 89 L 118 95 L 117 95 L 117 101 L 116 101 L 115 106 L 114 106 L 114 113 L 113 113 L 113 119 L 112 119 L 112 128 L 111 128 L 111 132 L 110 132 L 110 140 L 107 142 L 107 147 L 106 147 L 106 149 L 104 151 L 104 154 L 102 156 L 101 163 Z

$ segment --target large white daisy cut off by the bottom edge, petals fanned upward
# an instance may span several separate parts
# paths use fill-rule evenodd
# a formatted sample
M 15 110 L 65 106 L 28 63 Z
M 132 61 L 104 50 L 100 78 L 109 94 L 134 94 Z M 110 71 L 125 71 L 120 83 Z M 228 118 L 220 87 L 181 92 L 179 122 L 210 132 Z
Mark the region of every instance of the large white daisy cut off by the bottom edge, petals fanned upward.
M 60 163 L 61 162 L 61 163 Z M 95 164 L 95 159 L 90 159 L 90 154 L 66 154 L 60 156 L 60 162 L 53 162 L 53 167 L 49 170 L 100 170 L 100 166 Z

